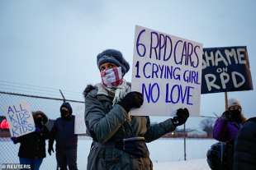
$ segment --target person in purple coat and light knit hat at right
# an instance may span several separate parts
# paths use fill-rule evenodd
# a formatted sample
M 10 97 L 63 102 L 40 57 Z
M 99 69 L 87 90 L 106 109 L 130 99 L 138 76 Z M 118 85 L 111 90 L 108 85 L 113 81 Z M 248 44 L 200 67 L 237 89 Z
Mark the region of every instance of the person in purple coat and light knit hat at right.
M 213 127 L 213 138 L 224 142 L 225 149 L 223 153 L 223 166 L 231 170 L 233 166 L 234 141 L 238 135 L 239 129 L 246 121 L 242 114 L 241 104 L 237 99 L 228 100 L 228 110 L 216 120 Z

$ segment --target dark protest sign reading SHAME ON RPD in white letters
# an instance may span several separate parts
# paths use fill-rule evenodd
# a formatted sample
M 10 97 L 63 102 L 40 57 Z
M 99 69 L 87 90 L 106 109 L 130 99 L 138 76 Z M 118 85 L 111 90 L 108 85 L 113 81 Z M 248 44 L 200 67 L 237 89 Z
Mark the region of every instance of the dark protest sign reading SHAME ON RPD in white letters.
M 247 48 L 203 48 L 201 94 L 253 90 Z

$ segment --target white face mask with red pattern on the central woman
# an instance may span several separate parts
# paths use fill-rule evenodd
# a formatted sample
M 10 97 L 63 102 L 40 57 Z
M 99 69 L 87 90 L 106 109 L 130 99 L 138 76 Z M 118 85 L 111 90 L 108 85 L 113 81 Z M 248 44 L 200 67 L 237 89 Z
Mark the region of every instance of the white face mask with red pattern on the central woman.
M 106 71 L 102 71 L 101 76 L 103 85 L 110 88 L 121 85 L 121 83 L 123 82 L 121 67 L 110 68 Z

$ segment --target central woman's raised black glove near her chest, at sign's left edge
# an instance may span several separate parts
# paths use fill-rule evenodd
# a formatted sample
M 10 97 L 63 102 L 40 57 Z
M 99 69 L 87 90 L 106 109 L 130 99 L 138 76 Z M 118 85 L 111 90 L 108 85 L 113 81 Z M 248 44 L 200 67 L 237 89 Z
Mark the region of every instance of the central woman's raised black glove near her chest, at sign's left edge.
M 126 112 L 129 113 L 130 108 L 140 108 L 143 104 L 143 96 L 140 92 L 132 91 L 129 94 L 126 94 L 125 98 L 118 104 L 125 108 Z

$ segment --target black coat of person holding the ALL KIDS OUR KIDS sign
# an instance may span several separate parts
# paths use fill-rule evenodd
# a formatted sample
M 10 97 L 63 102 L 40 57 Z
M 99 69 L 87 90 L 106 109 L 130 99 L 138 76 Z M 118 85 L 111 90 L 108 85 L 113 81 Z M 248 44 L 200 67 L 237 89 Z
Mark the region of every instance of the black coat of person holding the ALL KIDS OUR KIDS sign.
M 38 130 L 15 139 L 15 143 L 21 143 L 19 157 L 26 159 L 45 158 L 45 140 L 49 138 L 49 131 L 46 126 L 36 126 L 36 129 Z

